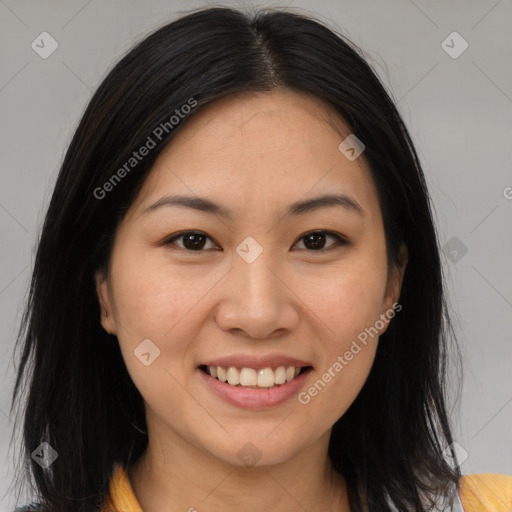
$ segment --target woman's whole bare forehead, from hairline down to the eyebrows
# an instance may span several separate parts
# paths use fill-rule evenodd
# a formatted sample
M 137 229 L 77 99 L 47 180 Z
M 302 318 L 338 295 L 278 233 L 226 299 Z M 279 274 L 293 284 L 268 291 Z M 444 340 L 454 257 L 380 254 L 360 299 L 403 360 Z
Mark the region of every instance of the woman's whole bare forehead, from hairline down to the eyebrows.
M 364 156 L 350 161 L 338 149 L 350 127 L 314 96 L 287 89 L 237 93 L 182 122 L 146 178 L 140 210 L 166 193 L 186 193 L 236 203 L 235 210 L 256 216 L 333 190 L 375 207 Z

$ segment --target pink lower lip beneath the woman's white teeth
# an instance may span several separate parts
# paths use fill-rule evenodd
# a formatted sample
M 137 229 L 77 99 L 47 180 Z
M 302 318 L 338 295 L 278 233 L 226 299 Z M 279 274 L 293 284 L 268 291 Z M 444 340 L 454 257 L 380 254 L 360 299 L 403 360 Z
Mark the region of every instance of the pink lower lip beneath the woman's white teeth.
M 311 368 L 290 382 L 272 389 L 238 388 L 214 379 L 201 369 L 197 369 L 210 389 L 226 402 L 245 409 L 259 409 L 281 405 L 292 398 L 304 384 Z

